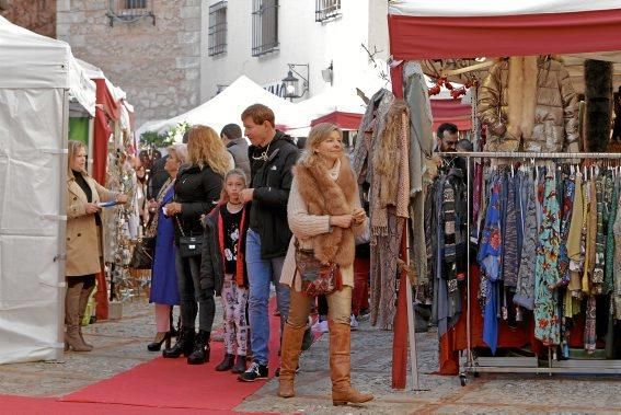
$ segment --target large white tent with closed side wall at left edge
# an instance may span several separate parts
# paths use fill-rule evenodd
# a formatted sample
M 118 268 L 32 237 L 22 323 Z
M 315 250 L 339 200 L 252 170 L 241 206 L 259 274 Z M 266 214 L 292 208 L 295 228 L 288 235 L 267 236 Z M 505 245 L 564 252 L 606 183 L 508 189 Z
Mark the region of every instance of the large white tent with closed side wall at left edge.
M 62 354 L 70 91 L 94 106 L 73 64 L 68 44 L 0 18 L 0 364 Z

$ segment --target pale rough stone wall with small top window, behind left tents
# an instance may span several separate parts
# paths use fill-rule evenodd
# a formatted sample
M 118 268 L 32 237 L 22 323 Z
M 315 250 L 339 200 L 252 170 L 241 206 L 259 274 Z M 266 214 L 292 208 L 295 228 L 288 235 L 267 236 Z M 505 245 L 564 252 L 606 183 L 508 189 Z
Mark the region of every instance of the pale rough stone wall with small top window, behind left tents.
M 57 0 L 58 38 L 127 93 L 136 127 L 199 104 L 200 0 L 149 0 L 156 15 L 133 23 L 106 15 L 108 0 Z

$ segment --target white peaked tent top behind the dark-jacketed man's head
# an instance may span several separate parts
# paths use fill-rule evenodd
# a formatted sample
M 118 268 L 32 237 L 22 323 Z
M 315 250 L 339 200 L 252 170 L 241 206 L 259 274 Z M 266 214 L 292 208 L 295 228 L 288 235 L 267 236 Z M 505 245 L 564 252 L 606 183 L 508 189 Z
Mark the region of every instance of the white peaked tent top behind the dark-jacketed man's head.
M 207 125 L 220 132 L 220 129 L 227 124 L 241 126 L 241 113 L 248 106 L 256 103 L 267 105 L 274 111 L 276 125 L 286 126 L 289 129 L 304 124 L 295 104 L 274 95 L 249 78 L 241 76 L 218 95 L 196 108 L 163 122 L 147 123 L 140 126 L 136 134 L 138 137 L 146 131 L 162 134 L 183 122 Z

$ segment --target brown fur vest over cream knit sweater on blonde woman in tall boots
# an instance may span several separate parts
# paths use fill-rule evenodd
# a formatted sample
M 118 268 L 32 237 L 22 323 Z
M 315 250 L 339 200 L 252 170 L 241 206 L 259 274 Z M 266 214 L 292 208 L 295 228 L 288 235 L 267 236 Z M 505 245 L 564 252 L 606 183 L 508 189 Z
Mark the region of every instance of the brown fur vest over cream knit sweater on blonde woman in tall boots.
M 330 216 L 348 215 L 358 207 L 358 186 L 347 157 L 337 160 L 331 170 L 319 163 L 298 163 L 287 204 L 287 217 L 294 237 L 283 266 L 280 284 L 301 290 L 300 278 L 296 278 L 297 238 L 300 247 L 312 249 L 318 260 L 337 263 L 343 285 L 354 287 L 355 238 L 365 233 L 368 219 L 359 226 L 343 229 L 331 227 Z

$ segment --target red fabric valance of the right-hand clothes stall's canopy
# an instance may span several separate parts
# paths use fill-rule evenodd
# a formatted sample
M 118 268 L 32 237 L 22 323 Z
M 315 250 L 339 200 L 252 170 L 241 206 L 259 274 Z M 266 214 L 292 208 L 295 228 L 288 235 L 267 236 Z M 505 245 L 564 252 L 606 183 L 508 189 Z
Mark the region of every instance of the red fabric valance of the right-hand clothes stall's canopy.
M 490 3 L 490 8 L 493 4 Z M 621 50 L 621 9 L 493 16 L 389 14 L 395 59 Z

